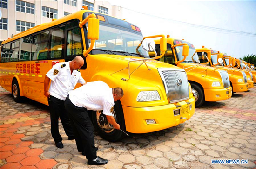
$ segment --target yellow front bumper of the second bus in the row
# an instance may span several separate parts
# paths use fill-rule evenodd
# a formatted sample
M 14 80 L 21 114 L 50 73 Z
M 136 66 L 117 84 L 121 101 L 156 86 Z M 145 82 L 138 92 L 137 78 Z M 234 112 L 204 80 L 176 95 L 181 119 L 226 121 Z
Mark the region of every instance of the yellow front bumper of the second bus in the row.
M 232 96 L 232 88 L 204 89 L 205 101 L 220 101 Z

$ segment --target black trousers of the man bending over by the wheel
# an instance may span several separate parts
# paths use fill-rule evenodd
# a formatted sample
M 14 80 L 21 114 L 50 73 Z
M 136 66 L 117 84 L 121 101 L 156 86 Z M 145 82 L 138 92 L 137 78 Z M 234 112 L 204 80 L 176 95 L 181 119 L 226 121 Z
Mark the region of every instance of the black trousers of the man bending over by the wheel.
M 68 96 L 65 100 L 65 108 L 71 119 L 77 150 L 84 152 L 88 160 L 96 159 L 97 152 L 94 144 L 94 126 L 87 109 L 75 106 L 69 100 Z

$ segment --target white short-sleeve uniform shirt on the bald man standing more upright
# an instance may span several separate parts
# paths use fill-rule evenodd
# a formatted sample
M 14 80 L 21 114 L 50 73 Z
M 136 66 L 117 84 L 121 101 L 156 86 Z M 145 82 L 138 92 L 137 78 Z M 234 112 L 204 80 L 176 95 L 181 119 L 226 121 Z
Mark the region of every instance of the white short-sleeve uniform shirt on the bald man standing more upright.
M 68 92 L 74 89 L 77 82 L 81 84 L 85 83 L 80 71 L 73 70 L 71 75 L 69 62 L 55 64 L 53 68 L 46 74 L 47 77 L 52 80 L 49 89 L 50 95 L 60 100 L 66 99 Z

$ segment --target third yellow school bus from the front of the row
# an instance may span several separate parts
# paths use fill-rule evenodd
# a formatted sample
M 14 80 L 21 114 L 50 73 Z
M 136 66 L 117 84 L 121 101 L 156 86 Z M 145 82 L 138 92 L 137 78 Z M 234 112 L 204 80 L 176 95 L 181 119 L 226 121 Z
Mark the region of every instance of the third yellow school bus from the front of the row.
M 223 57 L 222 53 L 219 53 L 216 50 L 205 48 L 204 46 L 202 46 L 201 49 L 196 49 L 196 51 L 197 53 L 204 52 L 204 54 L 208 57 L 210 61 L 209 66 L 212 66 L 218 69 L 223 69 L 228 72 L 230 85 L 232 87 L 233 93 L 244 92 L 248 90 L 248 84 L 247 84 L 247 78 L 246 78 L 245 72 L 239 69 L 224 67 L 224 62 L 222 60 L 222 57 Z M 218 59 L 221 59 L 223 63 L 219 63 Z

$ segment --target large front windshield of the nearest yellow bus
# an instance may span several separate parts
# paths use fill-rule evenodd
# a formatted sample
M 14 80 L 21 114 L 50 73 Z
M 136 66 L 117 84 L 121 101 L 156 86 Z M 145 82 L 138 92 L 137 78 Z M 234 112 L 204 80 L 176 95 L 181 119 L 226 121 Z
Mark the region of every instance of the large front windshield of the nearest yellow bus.
M 83 18 L 89 14 L 91 13 L 84 13 Z M 99 13 L 94 14 L 100 19 L 100 32 L 99 39 L 95 41 L 92 54 L 102 53 L 149 58 L 148 52 L 143 50 L 142 46 L 136 50 L 143 39 L 141 30 L 138 27 L 122 19 Z

